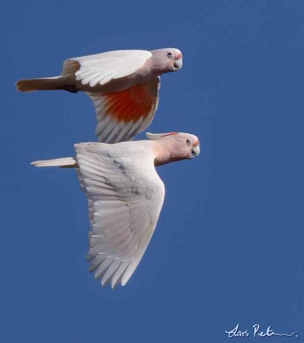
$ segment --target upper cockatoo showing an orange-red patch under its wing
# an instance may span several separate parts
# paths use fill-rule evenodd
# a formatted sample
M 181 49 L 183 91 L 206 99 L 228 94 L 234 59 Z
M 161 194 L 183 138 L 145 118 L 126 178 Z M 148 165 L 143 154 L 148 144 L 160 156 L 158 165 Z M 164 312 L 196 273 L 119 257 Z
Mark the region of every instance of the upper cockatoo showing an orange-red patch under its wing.
M 154 117 L 159 76 L 181 68 L 178 49 L 117 50 L 68 59 L 60 76 L 19 80 L 18 91 L 86 92 L 94 102 L 99 142 L 131 141 Z

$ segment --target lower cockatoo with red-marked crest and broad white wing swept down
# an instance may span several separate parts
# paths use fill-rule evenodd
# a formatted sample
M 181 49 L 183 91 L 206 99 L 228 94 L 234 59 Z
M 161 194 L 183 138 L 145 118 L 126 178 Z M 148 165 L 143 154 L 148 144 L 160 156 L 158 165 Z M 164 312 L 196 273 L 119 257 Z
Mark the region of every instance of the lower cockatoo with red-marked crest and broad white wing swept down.
M 32 162 L 36 167 L 76 168 L 88 198 L 91 230 L 86 255 L 89 272 L 124 286 L 137 267 L 154 232 L 165 187 L 155 167 L 191 159 L 200 153 L 199 140 L 187 133 L 147 133 L 150 141 L 79 143 L 76 155 Z

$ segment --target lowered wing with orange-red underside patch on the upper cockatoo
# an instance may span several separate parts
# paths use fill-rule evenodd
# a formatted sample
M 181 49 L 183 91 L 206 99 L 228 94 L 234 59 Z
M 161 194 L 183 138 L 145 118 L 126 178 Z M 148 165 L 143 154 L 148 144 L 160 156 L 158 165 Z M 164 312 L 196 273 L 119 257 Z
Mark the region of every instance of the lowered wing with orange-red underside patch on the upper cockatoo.
M 87 93 L 94 102 L 98 125 L 95 133 L 99 142 L 131 141 L 145 130 L 158 105 L 160 78 L 116 93 Z

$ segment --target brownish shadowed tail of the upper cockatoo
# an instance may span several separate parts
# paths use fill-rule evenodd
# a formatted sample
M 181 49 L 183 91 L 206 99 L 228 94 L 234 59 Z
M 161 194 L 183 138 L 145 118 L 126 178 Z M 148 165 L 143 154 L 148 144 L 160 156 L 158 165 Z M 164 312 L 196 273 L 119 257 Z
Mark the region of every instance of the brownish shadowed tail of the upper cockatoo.
M 49 91 L 55 89 L 65 89 L 66 81 L 61 76 L 46 78 L 30 78 L 19 80 L 15 86 L 19 92 Z

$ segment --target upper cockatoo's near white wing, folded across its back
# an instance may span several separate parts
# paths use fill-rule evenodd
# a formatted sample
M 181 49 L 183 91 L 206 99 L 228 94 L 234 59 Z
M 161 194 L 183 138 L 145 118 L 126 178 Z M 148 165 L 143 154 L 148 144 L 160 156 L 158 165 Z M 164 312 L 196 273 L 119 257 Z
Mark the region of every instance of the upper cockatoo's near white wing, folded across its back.
M 80 68 L 75 73 L 76 80 L 94 87 L 136 72 L 151 56 L 152 53 L 146 50 L 117 50 L 70 58 L 64 62 L 62 75 L 71 74 L 71 68 L 75 68 L 74 61 L 77 61 Z

